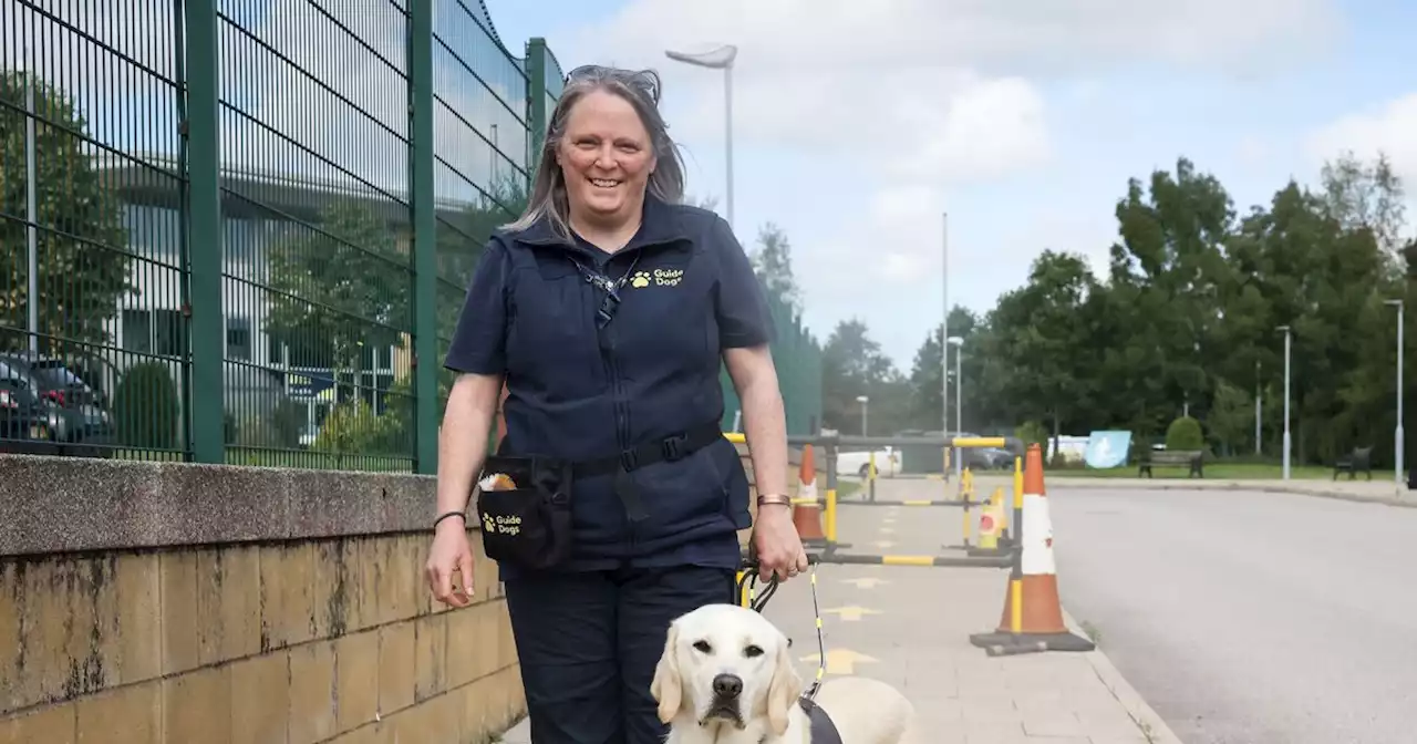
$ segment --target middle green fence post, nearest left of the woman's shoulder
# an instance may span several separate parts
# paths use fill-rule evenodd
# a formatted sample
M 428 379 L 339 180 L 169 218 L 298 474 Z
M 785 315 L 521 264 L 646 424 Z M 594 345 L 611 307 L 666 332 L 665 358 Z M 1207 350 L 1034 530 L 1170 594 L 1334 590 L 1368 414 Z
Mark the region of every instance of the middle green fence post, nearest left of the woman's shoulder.
M 434 214 L 434 9 L 408 4 L 410 203 L 414 225 L 414 472 L 438 472 L 438 224 Z

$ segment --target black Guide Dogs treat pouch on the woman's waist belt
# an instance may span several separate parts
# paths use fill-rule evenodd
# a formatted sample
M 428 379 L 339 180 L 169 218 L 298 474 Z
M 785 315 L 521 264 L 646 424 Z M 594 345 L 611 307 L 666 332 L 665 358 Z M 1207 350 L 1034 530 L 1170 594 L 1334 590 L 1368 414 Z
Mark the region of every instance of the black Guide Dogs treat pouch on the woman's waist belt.
M 490 455 L 483 478 L 503 473 L 512 490 L 479 490 L 482 547 L 497 563 L 550 568 L 571 554 L 571 466 L 541 456 Z

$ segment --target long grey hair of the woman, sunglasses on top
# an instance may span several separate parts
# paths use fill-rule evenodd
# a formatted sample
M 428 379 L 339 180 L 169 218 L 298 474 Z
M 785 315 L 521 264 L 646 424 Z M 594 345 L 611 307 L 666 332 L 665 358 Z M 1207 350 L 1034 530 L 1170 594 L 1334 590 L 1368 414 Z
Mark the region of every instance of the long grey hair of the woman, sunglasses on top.
M 509 230 L 526 230 L 537 220 L 546 218 L 551 230 L 565 238 L 571 238 L 570 205 L 565 196 L 565 177 L 561 166 L 555 162 L 555 149 L 565 136 L 565 120 L 571 108 L 585 98 L 591 91 L 605 91 L 629 101 L 639 115 L 640 123 L 649 132 L 650 143 L 655 149 L 657 164 L 649 176 L 648 190 L 655 197 L 677 203 L 684 196 L 684 162 L 679 156 L 679 147 L 669 137 L 669 125 L 659 115 L 659 75 L 652 71 L 618 69 L 612 67 L 585 65 L 567 75 L 565 89 L 561 99 L 551 112 L 547 122 L 546 139 L 541 143 L 541 154 L 536 162 L 536 179 L 531 183 L 531 194 L 527 198 L 527 208 Z

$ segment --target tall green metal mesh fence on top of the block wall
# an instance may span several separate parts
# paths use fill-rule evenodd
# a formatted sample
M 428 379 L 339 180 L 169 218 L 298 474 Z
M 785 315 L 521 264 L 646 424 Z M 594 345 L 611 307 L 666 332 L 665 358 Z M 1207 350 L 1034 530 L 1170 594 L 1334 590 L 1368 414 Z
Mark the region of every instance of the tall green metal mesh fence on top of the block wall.
M 563 78 L 478 0 L 0 0 L 0 451 L 432 472 Z

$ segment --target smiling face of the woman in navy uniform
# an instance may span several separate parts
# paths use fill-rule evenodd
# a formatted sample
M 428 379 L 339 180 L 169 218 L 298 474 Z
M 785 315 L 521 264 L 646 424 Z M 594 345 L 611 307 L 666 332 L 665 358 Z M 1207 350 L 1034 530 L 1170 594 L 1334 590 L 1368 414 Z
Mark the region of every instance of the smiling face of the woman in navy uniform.
M 555 160 L 572 211 L 599 218 L 635 214 L 655 170 L 649 132 L 635 106 L 605 91 L 571 106 Z

